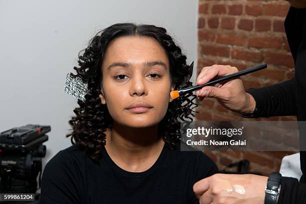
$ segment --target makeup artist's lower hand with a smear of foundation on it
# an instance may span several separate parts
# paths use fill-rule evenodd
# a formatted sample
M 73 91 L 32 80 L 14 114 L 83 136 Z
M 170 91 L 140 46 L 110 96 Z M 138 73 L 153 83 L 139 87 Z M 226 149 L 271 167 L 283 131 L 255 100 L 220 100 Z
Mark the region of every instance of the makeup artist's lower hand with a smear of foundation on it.
M 254 174 L 216 173 L 194 183 L 193 192 L 200 204 L 263 204 L 267 179 L 266 176 Z

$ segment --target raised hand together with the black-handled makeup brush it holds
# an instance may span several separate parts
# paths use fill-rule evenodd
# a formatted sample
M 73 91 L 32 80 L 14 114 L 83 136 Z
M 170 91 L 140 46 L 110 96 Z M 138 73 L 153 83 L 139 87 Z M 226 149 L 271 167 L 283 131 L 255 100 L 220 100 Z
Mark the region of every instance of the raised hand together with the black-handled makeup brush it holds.
M 266 64 L 261 64 L 252 68 L 237 71 L 236 67 L 228 65 L 206 66 L 203 67 L 197 77 L 197 85 L 171 91 L 170 96 L 174 99 L 180 95 L 196 90 L 196 95 L 199 97 L 199 100 L 202 100 L 203 97 L 215 97 L 221 105 L 229 110 L 243 113 L 250 112 L 254 108 L 255 101 L 250 94 L 245 92 L 242 80 L 239 79 L 239 76 L 266 67 Z M 221 83 L 224 84 L 221 85 Z M 218 87 L 213 85 L 217 85 Z

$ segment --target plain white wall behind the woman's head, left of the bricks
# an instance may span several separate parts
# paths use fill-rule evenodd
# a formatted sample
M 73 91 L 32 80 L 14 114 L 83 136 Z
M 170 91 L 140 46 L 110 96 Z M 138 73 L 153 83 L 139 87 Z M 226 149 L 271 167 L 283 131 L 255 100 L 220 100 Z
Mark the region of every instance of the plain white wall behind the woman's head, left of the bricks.
M 126 3 L 128 2 L 128 3 Z M 77 53 L 100 29 L 132 21 L 163 26 L 197 59 L 198 0 L 0 0 L 0 131 L 50 125 L 45 163 L 71 145 L 76 99 L 64 93 Z

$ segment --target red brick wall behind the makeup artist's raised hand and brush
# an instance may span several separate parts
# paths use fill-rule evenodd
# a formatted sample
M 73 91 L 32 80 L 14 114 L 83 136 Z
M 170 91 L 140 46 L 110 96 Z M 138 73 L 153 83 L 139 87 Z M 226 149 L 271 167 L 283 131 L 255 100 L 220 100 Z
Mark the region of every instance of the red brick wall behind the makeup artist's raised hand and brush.
M 271 85 L 293 76 L 293 59 L 286 40 L 283 21 L 289 4 L 283 0 L 199 0 L 198 64 L 229 64 L 239 70 L 260 63 L 268 68 L 242 76 L 245 89 Z M 203 120 L 245 120 L 226 110 L 213 98 L 199 102 L 196 118 Z M 248 120 L 296 120 L 276 116 Z M 241 159 L 251 161 L 250 170 L 268 174 L 279 170 L 286 151 L 206 152 L 220 169 Z

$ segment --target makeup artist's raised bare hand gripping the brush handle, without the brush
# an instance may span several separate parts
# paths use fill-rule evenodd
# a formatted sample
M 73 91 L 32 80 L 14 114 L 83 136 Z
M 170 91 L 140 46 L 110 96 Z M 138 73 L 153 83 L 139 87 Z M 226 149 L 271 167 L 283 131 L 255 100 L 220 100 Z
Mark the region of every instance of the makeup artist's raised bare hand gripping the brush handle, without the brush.
M 225 76 L 238 69 L 229 65 L 205 66 L 197 76 L 196 84 L 201 85 L 214 77 Z M 251 94 L 246 93 L 240 78 L 231 79 L 213 86 L 204 86 L 195 91 L 199 100 L 204 97 L 215 97 L 225 108 L 241 113 L 250 113 L 255 109 L 255 100 Z

